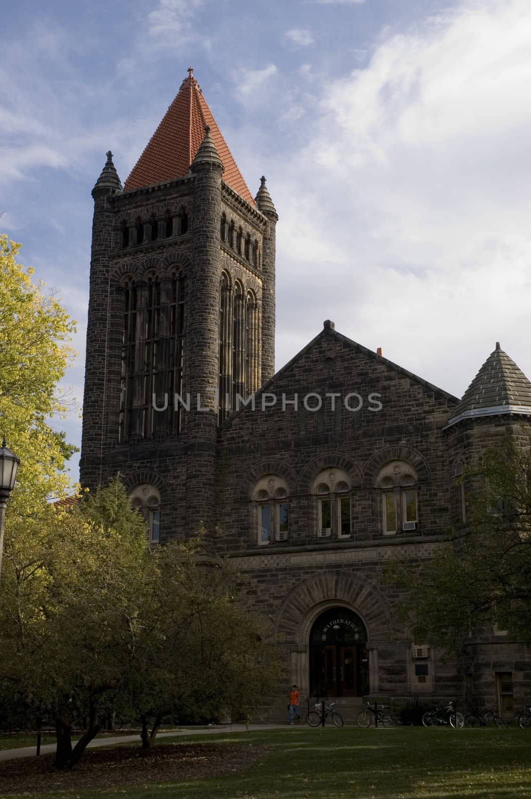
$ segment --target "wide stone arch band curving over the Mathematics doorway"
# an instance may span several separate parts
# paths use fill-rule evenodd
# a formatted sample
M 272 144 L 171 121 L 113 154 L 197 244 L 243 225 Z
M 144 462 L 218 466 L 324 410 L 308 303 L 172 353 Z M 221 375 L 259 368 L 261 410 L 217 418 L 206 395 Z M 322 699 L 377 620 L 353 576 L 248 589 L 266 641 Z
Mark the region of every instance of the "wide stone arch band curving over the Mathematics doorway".
M 397 640 L 405 631 L 394 622 L 390 602 L 382 591 L 362 574 L 319 571 L 299 582 L 284 599 L 277 621 L 277 636 L 295 642 L 297 649 L 308 646 L 311 626 L 323 610 L 342 606 L 353 610 L 367 629 L 369 642 Z

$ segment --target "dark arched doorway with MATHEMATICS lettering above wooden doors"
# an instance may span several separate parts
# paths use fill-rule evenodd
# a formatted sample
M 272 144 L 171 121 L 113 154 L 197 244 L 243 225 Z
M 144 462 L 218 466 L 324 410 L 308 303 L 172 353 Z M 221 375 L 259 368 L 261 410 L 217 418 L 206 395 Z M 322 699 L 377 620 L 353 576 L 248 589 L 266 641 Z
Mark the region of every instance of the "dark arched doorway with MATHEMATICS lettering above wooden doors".
M 353 610 L 324 610 L 311 627 L 308 654 L 310 691 L 337 697 L 369 693 L 367 629 Z

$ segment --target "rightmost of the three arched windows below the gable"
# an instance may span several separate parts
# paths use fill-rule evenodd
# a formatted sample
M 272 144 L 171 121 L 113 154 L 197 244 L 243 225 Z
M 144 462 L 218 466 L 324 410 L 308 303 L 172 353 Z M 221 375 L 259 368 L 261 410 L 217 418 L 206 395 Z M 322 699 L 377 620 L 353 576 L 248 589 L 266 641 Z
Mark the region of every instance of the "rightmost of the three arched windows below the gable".
M 409 463 L 393 460 L 378 474 L 376 486 L 382 495 L 384 535 L 415 530 L 418 525 L 417 473 Z

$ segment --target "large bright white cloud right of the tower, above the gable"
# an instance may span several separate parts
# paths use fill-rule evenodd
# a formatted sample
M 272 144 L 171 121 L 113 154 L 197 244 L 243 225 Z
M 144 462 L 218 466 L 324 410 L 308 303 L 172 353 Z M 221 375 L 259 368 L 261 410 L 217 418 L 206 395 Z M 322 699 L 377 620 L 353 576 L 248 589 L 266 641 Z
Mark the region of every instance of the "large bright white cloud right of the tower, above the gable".
M 531 376 L 530 40 L 527 0 L 466 2 L 327 82 L 307 146 L 268 174 L 278 364 L 331 317 L 452 392 L 496 340 Z

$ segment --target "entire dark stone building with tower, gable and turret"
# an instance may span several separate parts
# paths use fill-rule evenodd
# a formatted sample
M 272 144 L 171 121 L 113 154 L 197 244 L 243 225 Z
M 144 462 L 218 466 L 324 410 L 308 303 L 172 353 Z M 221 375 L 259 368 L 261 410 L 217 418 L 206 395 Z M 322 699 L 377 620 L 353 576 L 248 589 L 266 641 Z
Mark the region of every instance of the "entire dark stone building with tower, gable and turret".
M 93 189 L 81 482 L 120 472 L 153 544 L 202 523 L 303 694 L 511 714 L 531 654 L 492 630 L 440 662 L 383 566 L 429 559 L 465 517 L 456 476 L 529 420 L 531 384 L 497 345 L 459 400 L 329 320 L 274 373 L 278 216 L 188 72 L 124 187 L 107 153 Z

